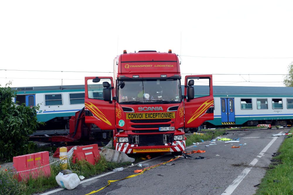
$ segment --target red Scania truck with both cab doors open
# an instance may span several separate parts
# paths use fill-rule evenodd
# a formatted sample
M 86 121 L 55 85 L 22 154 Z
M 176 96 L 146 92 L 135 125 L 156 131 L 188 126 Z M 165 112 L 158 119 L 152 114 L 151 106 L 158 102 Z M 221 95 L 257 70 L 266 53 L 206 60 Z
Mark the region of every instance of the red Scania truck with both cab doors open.
M 194 97 L 193 85 L 202 80 L 209 91 Z M 185 76 L 184 83 L 183 95 L 180 63 L 171 50 L 124 50 L 114 59 L 114 78 L 85 78 L 84 123 L 113 130 L 115 149 L 127 154 L 181 155 L 184 130 L 214 119 L 212 75 Z

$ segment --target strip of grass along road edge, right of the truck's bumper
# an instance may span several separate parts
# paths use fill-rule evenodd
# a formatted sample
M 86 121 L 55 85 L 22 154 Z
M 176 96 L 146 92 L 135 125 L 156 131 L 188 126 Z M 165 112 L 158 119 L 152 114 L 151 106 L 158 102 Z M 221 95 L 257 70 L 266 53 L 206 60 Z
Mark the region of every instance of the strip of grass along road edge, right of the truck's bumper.
M 209 132 L 205 133 L 204 135 L 191 134 L 189 136 L 186 136 L 186 141 L 185 141 L 186 146 L 190 146 L 196 142 L 201 142 L 201 139 L 203 141 L 212 140 L 218 136 L 223 135 L 224 133 L 225 133 L 225 131 L 221 129 L 221 131 L 209 131 Z

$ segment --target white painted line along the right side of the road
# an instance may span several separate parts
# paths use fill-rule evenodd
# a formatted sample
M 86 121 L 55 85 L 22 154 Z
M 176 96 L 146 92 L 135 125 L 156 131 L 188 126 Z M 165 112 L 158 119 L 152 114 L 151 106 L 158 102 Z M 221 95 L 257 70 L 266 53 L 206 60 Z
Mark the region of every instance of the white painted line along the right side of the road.
M 279 134 L 281 134 L 283 131 L 281 131 Z M 269 148 L 272 146 L 272 144 L 276 141 L 278 137 L 275 137 L 268 143 L 265 148 L 259 153 L 259 155 L 263 155 Z M 249 164 L 250 166 L 254 166 L 260 158 L 255 158 L 251 161 Z M 237 188 L 237 186 L 240 184 L 240 182 L 245 178 L 245 176 L 251 171 L 252 167 L 245 168 L 240 175 L 234 181 L 225 189 L 225 191 L 221 195 L 230 195 L 233 193 L 233 191 Z

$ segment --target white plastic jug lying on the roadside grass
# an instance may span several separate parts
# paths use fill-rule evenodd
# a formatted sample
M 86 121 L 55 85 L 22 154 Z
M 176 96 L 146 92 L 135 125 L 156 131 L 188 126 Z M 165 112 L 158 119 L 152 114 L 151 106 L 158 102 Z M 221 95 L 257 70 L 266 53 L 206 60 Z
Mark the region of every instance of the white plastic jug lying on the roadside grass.
M 59 172 L 56 176 L 56 181 L 60 187 L 65 189 L 74 189 L 80 184 L 80 179 L 76 173 L 63 175 L 63 173 Z

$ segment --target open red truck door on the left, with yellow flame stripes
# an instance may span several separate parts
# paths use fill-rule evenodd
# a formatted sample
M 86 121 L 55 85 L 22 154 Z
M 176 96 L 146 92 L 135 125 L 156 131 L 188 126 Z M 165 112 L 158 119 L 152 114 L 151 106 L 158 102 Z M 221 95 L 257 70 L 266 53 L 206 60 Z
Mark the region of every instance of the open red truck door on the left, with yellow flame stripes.
M 103 82 L 108 82 L 113 87 L 112 77 L 85 77 L 84 105 L 85 110 L 88 110 L 85 122 L 93 123 L 102 130 L 111 130 L 115 129 L 115 100 L 103 100 Z

